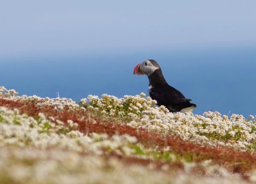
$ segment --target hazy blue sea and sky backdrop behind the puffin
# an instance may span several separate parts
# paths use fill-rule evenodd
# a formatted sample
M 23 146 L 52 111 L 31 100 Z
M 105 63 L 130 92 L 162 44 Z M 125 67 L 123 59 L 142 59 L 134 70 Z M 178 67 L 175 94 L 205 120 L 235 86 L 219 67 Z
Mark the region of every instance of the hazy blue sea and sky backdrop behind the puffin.
M 0 3 L 0 86 L 79 99 L 146 93 L 145 59 L 197 104 L 256 115 L 256 1 L 23 0 Z

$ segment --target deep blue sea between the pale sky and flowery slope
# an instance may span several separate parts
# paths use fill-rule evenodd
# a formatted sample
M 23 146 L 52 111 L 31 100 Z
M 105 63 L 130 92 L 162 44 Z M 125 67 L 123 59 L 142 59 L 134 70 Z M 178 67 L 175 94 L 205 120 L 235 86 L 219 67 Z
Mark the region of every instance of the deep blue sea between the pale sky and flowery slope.
M 20 95 L 79 99 L 103 93 L 146 93 L 146 76 L 133 75 L 145 59 L 159 62 L 169 85 L 197 105 L 193 111 L 256 115 L 256 47 L 112 51 L 9 57 L 0 60 L 0 86 Z

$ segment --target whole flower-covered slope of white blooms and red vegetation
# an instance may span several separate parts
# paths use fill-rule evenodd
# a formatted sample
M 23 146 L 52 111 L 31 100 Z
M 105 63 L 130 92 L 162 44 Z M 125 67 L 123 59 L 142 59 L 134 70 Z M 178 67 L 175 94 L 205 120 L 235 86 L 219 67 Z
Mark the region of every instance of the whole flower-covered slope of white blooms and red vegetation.
M 169 113 L 125 95 L 19 96 L 0 87 L 0 183 L 256 182 L 256 119 Z

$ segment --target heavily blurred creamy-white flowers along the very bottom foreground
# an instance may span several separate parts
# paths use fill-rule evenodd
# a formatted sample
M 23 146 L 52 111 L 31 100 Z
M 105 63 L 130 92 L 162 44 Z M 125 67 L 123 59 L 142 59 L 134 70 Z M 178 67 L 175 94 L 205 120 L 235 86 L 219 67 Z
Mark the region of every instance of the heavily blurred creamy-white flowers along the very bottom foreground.
M 3 184 L 241 184 L 239 177 L 198 177 L 186 172 L 166 174 L 119 159 L 83 155 L 70 150 L 19 147 L 0 148 L 0 183 Z M 188 167 L 189 168 L 189 167 Z M 163 166 L 168 169 L 168 166 Z M 215 167 L 209 170 L 213 173 Z M 218 171 L 219 173 L 225 170 Z M 252 181 L 253 178 L 251 179 Z

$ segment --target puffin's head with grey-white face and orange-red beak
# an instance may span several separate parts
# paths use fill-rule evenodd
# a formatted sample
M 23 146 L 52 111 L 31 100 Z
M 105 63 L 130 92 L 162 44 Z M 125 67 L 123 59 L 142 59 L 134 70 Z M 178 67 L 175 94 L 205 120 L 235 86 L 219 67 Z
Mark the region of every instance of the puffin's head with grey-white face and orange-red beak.
M 134 68 L 134 74 L 135 75 L 147 75 L 150 76 L 155 70 L 160 68 L 157 61 L 154 59 L 148 59 L 144 62 L 138 64 Z

